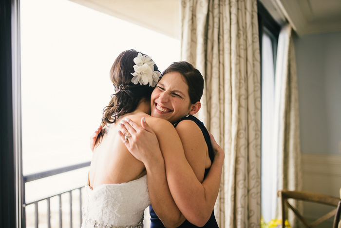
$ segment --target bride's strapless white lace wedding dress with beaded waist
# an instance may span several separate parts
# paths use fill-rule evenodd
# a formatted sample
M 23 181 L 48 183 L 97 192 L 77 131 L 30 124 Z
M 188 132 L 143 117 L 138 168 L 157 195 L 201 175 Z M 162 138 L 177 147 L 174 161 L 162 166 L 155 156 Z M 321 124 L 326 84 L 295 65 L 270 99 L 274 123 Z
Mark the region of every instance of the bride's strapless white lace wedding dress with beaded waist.
M 147 175 L 122 184 L 85 186 L 81 228 L 143 228 L 143 211 L 151 202 Z

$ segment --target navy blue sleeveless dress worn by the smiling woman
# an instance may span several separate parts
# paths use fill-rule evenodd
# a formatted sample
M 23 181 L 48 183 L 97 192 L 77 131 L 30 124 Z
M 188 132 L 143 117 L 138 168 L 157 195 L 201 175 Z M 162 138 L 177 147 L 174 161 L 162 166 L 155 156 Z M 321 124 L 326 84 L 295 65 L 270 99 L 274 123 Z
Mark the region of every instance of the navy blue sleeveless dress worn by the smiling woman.
M 203 135 L 204 135 L 207 147 L 208 147 L 209 158 L 211 162 L 213 163 L 214 152 L 213 152 L 211 140 L 209 138 L 208 130 L 206 129 L 204 124 L 200 120 L 198 120 L 196 117 L 188 115 L 186 117 L 181 118 L 177 123 L 174 124 L 174 126 L 176 126 L 180 121 L 183 121 L 183 120 L 191 120 L 200 127 L 201 131 L 203 132 Z M 204 178 L 206 177 L 208 170 L 209 168 L 205 170 Z M 149 212 L 151 214 L 151 228 L 164 228 L 165 226 L 162 224 L 161 220 L 157 217 L 156 213 L 154 212 L 152 208 L 152 205 L 149 206 Z M 194 226 L 193 224 L 189 223 L 188 220 L 185 220 L 185 222 L 183 222 L 183 224 L 179 226 L 179 228 L 194 228 L 194 227 L 197 227 L 197 226 Z M 205 224 L 204 228 L 218 228 L 218 224 L 214 216 L 214 211 L 212 211 L 211 217 L 208 219 L 208 222 Z

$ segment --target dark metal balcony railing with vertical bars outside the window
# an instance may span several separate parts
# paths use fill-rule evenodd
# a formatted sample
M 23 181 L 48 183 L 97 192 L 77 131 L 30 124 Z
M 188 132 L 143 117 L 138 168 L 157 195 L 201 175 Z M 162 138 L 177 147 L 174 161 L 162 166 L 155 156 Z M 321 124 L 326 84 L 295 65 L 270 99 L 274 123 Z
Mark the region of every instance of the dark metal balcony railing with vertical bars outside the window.
M 81 192 L 81 189 L 84 186 L 76 187 L 76 188 L 70 189 L 68 191 L 64 191 L 64 192 L 61 192 L 58 194 L 54 194 L 54 195 L 51 195 L 51 196 L 48 196 L 45 198 L 41 198 L 41 199 L 38 199 L 38 200 L 35 200 L 32 202 L 26 202 L 25 201 L 25 183 L 35 181 L 35 180 L 38 180 L 41 178 L 50 177 L 50 176 L 54 176 L 57 174 L 65 173 L 68 171 L 76 170 L 79 168 L 87 167 L 87 166 L 90 166 L 90 162 L 81 163 L 81 164 L 77 164 L 77 165 L 73 165 L 73 166 L 66 166 L 66 167 L 62 167 L 62 168 L 57 168 L 57 169 L 53 169 L 53 170 L 48 170 L 48 171 L 44 171 L 44 172 L 39 172 L 39 173 L 34 173 L 34 174 L 27 175 L 27 176 L 23 176 L 22 177 L 23 185 L 22 185 L 22 189 L 21 189 L 21 191 L 22 191 L 22 202 L 24 202 L 22 205 L 22 212 L 23 212 L 22 213 L 23 214 L 22 225 L 23 225 L 23 228 L 26 228 L 26 207 L 29 205 L 35 206 L 35 227 L 38 228 L 38 224 L 39 224 L 39 221 L 38 221 L 38 215 L 39 215 L 38 202 L 42 202 L 42 201 L 47 202 L 47 227 L 50 228 L 51 227 L 50 199 L 52 197 L 56 197 L 56 196 L 58 197 L 58 201 L 59 201 L 59 228 L 61 228 L 62 227 L 62 207 L 61 207 L 62 206 L 62 200 L 61 200 L 61 196 L 63 194 L 66 194 L 66 193 L 69 193 L 70 228 L 72 228 L 72 221 L 73 221 L 73 219 L 72 219 L 72 192 L 75 190 L 79 191 L 79 217 L 80 217 L 79 222 L 81 224 L 82 223 L 82 200 L 81 200 L 82 199 L 82 192 Z

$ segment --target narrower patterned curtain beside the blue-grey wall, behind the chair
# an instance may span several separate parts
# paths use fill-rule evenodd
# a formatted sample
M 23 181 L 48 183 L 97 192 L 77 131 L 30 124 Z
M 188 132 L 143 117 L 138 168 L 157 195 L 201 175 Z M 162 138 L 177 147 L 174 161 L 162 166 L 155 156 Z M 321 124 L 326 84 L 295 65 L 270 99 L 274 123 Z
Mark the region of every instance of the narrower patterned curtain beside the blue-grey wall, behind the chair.
M 292 28 L 282 28 L 278 40 L 276 80 L 275 80 L 275 116 L 274 151 L 278 158 L 276 182 L 277 190 L 301 190 L 301 146 L 296 59 Z M 276 191 L 273 194 L 276 194 Z M 277 197 L 277 196 L 275 196 Z M 281 218 L 281 204 L 277 199 L 277 218 Z M 301 203 L 292 203 L 302 211 Z M 297 227 L 293 212 L 288 216 L 291 227 Z

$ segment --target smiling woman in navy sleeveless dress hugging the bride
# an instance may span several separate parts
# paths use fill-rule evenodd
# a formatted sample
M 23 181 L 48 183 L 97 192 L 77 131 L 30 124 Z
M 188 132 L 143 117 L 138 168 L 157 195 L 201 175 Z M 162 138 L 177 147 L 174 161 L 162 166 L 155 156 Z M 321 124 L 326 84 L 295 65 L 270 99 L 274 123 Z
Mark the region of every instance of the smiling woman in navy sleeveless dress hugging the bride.
M 175 62 L 162 73 L 152 93 L 151 115 L 174 124 L 185 153 L 163 153 L 155 134 L 142 120 L 143 128 L 129 119 L 122 122 L 119 133 L 122 141 L 147 169 L 152 228 L 218 227 L 213 207 L 224 152 L 220 150 L 214 157 L 206 127 L 191 116 L 201 107 L 203 83 L 202 75 L 191 64 Z M 129 140 L 127 135 L 131 135 Z M 215 141 L 212 142 L 217 148 Z M 214 159 L 221 166 L 211 166 Z M 170 206 L 171 201 L 176 208 Z

